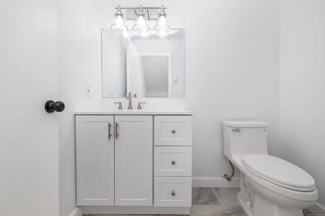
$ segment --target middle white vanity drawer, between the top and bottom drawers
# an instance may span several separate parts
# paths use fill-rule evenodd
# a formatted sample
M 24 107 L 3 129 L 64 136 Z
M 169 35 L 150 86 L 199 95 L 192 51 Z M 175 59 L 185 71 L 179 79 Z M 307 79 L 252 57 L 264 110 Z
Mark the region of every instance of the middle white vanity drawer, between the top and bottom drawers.
M 191 146 L 155 146 L 154 176 L 191 176 Z

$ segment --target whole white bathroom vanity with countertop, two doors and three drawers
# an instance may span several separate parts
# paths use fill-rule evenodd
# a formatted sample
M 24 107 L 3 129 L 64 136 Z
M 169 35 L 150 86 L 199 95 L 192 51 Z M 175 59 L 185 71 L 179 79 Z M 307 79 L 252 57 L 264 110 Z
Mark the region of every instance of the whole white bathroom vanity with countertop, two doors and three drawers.
M 189 214 L 192 111 L 76 111 L 84 214 Z

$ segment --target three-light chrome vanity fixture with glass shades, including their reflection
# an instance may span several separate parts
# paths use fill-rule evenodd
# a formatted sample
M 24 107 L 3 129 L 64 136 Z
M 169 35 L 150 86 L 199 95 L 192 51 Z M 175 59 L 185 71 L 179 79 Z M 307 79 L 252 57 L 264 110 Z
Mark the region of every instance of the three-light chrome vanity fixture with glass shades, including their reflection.
M 148 21 L 156 21 L 155 25 L 152 24 L 152 27 L 157 31 L 157 35 L 155 39 L 159 42 L 167 42 L 169 41 L 168 31 L 171 29 L 168 21 L 167 14 L 165 12 L 164 5 L 161 7 L 120 7 L 118 5 L 117 12 L 115 13 L 114 23 L 111 26 L 112 29 L 122 29 L 120 40 L 124 41 L 132 41 L 132 35 L 129 31 L 130 28 L 126 26 L 126 22 L 123 17 L 122 10 L 125 14 L 126 20 L 135 20 L 133 25 L 133 30 L 138 31 L 138 40 L 141 42 L 149 42 L 151 41 L 151 36 L 149 33 L 149 25 Z

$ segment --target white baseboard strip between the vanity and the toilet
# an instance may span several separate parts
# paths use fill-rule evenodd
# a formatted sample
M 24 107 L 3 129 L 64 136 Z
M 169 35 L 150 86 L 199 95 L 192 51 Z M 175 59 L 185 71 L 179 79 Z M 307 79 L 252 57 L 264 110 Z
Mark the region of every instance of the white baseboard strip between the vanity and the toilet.
M 192 177 L 194 188 L 239 188 L 239 177 L 227 181 L 222 177 Z

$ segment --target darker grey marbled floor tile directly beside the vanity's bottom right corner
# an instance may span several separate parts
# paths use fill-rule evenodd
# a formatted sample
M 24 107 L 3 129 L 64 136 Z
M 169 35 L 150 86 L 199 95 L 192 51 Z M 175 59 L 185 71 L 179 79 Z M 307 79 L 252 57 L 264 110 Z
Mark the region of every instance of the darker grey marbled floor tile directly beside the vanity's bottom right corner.
M 192 188 L 193 205 L 219 205 L 211 188 Z

